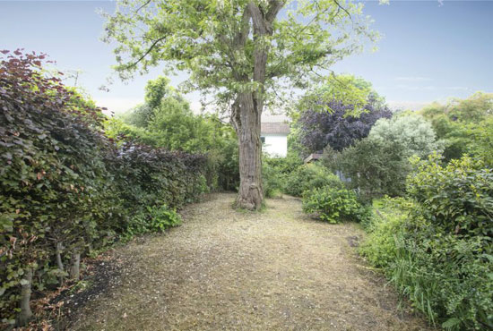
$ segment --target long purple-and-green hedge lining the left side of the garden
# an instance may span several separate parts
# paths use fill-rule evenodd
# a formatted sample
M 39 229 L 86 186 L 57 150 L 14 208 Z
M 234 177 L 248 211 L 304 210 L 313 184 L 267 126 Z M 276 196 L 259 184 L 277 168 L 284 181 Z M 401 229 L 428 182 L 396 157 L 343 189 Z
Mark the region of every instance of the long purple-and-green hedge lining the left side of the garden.
M 2 51 L 0 314 L 32 318 L 31 294 L 80 277 L 81 258 L 133 233 L 177 225 L 207 191 L 203 155 L 105 135 L 91 101 L 42 70 L 46 55 Z

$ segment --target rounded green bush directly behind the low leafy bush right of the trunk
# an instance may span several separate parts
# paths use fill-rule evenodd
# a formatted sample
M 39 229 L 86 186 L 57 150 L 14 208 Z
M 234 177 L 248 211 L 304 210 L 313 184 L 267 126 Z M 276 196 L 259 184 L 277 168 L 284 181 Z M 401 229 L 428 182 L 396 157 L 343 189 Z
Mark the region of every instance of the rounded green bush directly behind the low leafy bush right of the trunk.
M 329 186 L 343 188 L 344 183 L 323 165 L 299 165 L 291 173 L 284 185 L 284 191 L 295 197 L 301 197 L 304 191 Z

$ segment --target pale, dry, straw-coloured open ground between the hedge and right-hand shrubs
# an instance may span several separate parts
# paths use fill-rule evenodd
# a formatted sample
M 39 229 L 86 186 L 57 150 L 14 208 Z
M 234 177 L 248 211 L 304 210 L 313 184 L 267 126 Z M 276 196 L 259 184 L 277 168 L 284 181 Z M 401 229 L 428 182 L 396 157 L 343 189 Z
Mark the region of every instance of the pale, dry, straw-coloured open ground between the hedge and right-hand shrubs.
M 350 247 L 357 225 L 310 220 L 286 196 L 262 213 L 234 211 L 234 198 L 213 194 L 182 226 L 116 250 L 121 278 L 72 329 L 427 329 Z

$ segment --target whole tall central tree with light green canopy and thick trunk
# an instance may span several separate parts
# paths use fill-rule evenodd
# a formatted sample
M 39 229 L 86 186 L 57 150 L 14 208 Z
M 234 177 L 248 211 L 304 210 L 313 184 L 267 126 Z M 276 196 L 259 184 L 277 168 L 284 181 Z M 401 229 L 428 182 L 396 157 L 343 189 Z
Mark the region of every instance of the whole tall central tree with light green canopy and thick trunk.
M 306 87 L 317 70 L 358 50 L 355 37 L 375 38 L 361 10 L 350 0 L 122 0 L 106 15 L 104 39 L 117 43 L 122 78 L 162 61 L 169 71 L 189 72 L 187 88 L 211 93 L 230 111 L 239 145 L 237 206 L 253 210 L 263 202 L 264 106 L 281 86 Z

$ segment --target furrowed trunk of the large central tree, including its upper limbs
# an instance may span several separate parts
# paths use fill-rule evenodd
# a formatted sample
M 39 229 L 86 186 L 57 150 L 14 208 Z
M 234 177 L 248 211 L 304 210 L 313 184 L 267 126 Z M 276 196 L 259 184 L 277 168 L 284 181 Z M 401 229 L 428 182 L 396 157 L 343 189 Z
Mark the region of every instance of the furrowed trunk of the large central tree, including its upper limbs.
M 242 28 L 234 40 L 237 49 L 244 49 L 250 33 L 251 20 L 255 45 L 253 77 L 236 73 L 236 79 L 243 83 L 253 79 L 257 88 L 238 93 L 231 113 L 231 122 L 237 131 L 239 143 L 239 191 L 236 204 L 239 208 L 249 210 L 260 209 L 264 201 L 260 118 L 264 109 L 264 83 L 269 50 L 264 38 L 272 36 L 272 21 L 285 3 L 281 0 L 270 0 L 269 8 L 265 12 L 254 1 L 250 1 L 243 13 Z

